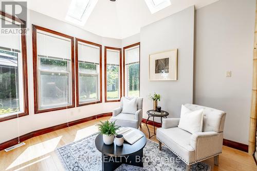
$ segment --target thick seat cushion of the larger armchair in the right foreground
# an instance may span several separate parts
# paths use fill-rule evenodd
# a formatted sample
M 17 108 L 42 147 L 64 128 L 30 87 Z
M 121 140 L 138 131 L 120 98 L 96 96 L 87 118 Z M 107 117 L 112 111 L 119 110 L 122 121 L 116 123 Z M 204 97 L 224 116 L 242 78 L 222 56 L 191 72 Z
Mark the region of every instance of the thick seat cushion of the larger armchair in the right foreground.
M 172 152 L 186 161 L 195 160 L 195 149 L 190 145 L 192 134 L 187 131 L 179 129 L 179 127 L 172 127 L 169 129 L 158 128 L 156 137 Z

